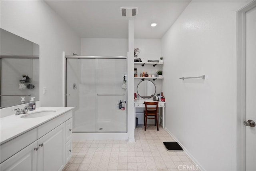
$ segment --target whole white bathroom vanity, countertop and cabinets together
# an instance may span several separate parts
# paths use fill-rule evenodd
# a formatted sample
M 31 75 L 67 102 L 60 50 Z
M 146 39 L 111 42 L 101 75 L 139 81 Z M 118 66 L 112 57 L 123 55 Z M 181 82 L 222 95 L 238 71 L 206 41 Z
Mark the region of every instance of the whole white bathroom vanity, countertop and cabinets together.
M 61 171 L 72 156 L 72 109 L 38 107 L 2 117 L 1 171 Z

